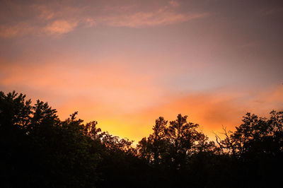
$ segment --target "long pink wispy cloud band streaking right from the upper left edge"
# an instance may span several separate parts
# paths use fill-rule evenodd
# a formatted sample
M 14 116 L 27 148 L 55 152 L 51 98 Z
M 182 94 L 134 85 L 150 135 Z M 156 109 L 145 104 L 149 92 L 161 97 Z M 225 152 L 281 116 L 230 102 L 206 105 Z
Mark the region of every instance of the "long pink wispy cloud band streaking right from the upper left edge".
M 18 4 L 9 4 L 17 9 L 17 15 L 24 20 L 7 22 L 0 27 L 0 37 L 22 35 L 60 36 L 79 27 L 91 28 L 94 25 L 112 27 L 153 27 L 183 23 L 207 16 L 207 13 L 180 13 L 178 1 L 167 1 L 154 8 L 141 8 L 136 4 L 122 6 L 64 6 L 64 4 L 31 4 L 21 8 Z M 33 15 L 33 16 L 31 16 Z M 12 18 L 12 17 L 11 17 Z M 7 19 L 9 19 L 7 17 Z

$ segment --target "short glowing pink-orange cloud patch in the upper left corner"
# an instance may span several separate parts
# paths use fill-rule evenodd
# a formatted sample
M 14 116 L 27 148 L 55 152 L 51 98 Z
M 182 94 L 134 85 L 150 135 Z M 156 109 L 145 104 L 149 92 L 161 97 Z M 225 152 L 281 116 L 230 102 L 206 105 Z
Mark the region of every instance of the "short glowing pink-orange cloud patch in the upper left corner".
M 10 21 L 0 27 L 0 37 L 4 38 L 29 34 L 58 36 L 71 32 L 79 25 L 94 25 L 89 16 L 82 15 L 83 8 L 62 4 L 30 4 L 21 8 L 19 4 L 10 3 L 7 6 L 13 11 L 12 15 L 6 16 L 6 20 Z

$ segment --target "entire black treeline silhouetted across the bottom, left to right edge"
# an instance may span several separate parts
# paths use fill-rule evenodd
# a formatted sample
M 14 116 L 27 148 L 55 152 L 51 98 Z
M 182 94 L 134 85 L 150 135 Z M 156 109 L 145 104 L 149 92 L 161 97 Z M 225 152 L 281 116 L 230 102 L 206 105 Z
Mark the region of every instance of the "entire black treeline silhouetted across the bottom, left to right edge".
M 0 93 L 1 187 L 281 187 L 283 112 L 247 113 L 216 143 L 178 114 L 132 141 L 25 95 Z M 279 183 L 279 184 L 278 184 Z

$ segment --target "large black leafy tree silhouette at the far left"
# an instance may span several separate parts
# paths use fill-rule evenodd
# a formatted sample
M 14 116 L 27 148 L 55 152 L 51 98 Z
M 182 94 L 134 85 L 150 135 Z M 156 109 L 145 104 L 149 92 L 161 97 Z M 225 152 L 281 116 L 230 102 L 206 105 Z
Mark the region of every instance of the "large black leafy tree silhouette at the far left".
M 99 154 L 75 114 L 61 122 L 46 102 L 0 93 L 4 187 L 85 187 L 98 180 Z

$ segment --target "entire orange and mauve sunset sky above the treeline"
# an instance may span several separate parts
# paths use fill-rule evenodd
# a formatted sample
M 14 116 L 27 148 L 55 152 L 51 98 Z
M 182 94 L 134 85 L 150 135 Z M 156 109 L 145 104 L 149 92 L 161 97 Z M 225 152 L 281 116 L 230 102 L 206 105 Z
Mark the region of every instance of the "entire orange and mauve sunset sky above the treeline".
M 136 143 L 283 110 L 282 1 L 0 1 L 0 90 Z

